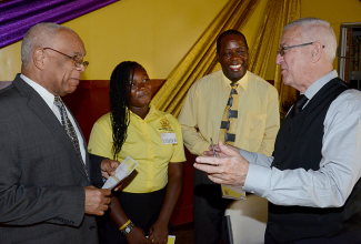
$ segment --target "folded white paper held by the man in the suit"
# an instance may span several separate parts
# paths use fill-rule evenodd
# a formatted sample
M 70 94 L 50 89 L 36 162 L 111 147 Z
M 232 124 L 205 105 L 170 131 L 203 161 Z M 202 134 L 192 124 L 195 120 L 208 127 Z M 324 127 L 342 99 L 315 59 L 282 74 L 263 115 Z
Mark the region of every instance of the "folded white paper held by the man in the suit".
M 133 172 L 133 170 L 137 167 L 138 164 L 139 163 L 136 160 L 131 159 L 130 156 L 127 156 L 117 167 L 116 175 L 110 176 L 106 181 L 102 189 L 112 190 L 113 187 L 116 187 L 116 185 L 118 185 L 119 182 L 128 177 L 131 174 L 131 172 Z

